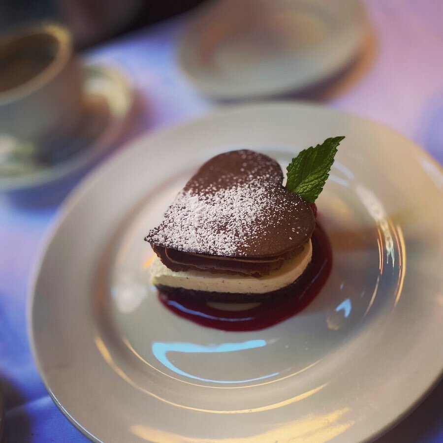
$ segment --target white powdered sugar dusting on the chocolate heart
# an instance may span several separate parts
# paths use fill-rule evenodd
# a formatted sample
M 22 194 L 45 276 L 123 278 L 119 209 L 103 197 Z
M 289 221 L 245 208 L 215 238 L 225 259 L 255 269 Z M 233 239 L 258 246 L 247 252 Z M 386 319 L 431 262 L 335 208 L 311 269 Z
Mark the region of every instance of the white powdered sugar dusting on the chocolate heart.
M 225 189 L 182 190 L 147 240 L 179 251 L 247 255 L 245 250 L 279 230 L 282 214 L 297 206 L 293 199 L 279 195 L 282 189 L 265 176 Z M 302 229 L 296 224 L 281 228 L 290 234 Z M 289 235 L 288 239 L 292 240 Z

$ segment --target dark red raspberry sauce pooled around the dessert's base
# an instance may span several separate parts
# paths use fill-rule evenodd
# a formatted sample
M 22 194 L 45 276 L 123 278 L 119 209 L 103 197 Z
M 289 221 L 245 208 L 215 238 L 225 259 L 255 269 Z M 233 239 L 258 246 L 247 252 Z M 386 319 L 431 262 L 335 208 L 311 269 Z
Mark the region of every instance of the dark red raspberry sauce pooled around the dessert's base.
M 311 241 L 312 260 L 299 278 L 293 296 L 261 302 L 258 306 L 243 311 L 228 311 L 210 306 L 206 302 L 185 300 L 161 293 L 158 293 L 158 298 L 163 306 L 174 314 L 209 328 L 223 331 L 255 331 L 268 328 L 305 309 L 316 297 L 331 272 L 331 246 L 318 223 Z

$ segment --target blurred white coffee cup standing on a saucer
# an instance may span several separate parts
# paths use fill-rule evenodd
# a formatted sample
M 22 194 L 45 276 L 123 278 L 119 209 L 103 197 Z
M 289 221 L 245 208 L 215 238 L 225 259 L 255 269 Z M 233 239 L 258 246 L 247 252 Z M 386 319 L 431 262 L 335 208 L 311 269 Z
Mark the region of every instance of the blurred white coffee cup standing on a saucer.
M 63 150 L 83 112 L 82 75 L 66 28 L 43 23 L 0 37 L 0 136 Z

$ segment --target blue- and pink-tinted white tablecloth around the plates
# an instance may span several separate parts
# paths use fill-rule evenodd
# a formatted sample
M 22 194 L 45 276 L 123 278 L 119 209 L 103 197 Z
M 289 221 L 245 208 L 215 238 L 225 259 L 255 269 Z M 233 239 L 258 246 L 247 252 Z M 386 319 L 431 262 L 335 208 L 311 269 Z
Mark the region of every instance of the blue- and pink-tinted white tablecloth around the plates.
M 396 129 L 443 163 L 443 2 L 367 1 L 373 36 L 361 57 L 308 99 Z M 204 115 L 217 106 L 187 83 L 175 48 L 188 17 L 95 48 L 85 57 L 119 63 L 137 94 L 137 113 L 123 141 L 137 133 Z M 122 148 L 124 149 L 124 148 Z M 0 380 L 5 442 L 87 441 L 63 416 L 40 380 L 26 328 L 27 286 L 45 232 L 60 205 L 18 207 L 0 196 Z M 378 440 L 443 442 L 443 382 L 405 420 Z

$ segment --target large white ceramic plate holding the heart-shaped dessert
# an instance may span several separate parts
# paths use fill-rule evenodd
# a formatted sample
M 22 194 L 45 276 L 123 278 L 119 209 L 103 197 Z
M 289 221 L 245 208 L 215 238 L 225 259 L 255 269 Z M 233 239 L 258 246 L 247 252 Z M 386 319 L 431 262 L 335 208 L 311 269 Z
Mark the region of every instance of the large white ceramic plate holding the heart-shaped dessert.
M 319 221 L 331 275 L 300 314 L 255 332 L 165 310 L 143 241 L 191 173 L 247 147 L 287 163 L 346 135 Z M 389 129 L 330 109 L 221 110 L 141 137 L 64 206 L 29 312 L 48 391 L 106 442 L 361 442 L 405 414 L 443 367 L 442 174 Z

